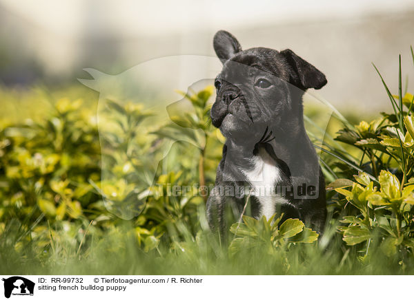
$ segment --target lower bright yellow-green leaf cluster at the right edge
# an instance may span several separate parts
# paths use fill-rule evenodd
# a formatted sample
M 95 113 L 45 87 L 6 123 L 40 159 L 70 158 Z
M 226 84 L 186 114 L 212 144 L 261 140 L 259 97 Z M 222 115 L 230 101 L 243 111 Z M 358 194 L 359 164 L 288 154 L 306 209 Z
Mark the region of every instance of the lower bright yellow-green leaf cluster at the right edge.
M 346 196 L 359 216 L 346 216 L 342 222 L 347 226 L 339 227 L 348 245 L 366 243 L 378 239 L 383 243 L 387 255 L 396 255 L 398 250 L 412 251 L 414 185 L 401 189 L 400 181 L 388 171 L 382 170 L 379 176 L 380 189 L 374 186 L 365 173 L 359 174 L 352 184 L 351 191 L 337 188 L 335 191 Z

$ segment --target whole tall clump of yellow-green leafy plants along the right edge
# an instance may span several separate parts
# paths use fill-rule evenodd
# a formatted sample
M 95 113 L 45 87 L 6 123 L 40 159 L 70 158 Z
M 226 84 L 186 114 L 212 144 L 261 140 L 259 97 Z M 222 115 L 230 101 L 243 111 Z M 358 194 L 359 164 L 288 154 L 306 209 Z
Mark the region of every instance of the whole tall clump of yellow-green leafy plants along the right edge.
M 341 222 L 346 225 L 338 227 L 347 245 L 364 244 L 366 256 L 374 243 L 386 255 L 406 261 L 414 246 L 414 98 L 408 93 L 402 97 L 401 58 L 399 95 L 393 96 L 385 83 L 384 87 L 394 114 L 382 113 L 382 118 L 339 131 L 337 140 L 362 151 L 359 167 L 355 168 L 359 173 L 353 175 L 353 180 L 337 179 L 327 189 L 345 196 L 346 202 L 337 202 L 340 207 L 349 203 L 356 208 L 353 215 L 343 217 Z

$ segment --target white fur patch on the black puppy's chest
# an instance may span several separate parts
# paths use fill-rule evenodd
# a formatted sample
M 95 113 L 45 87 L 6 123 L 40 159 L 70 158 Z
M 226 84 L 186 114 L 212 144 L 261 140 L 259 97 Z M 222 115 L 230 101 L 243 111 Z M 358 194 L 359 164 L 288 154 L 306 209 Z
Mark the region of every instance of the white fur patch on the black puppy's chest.
M 264 149 L 259 151 L 259 155 L 255 156 L 252 162 L 253 169 L 243 171 L 243 173 L 252 186 L 251 195 L 255 195 L 259 201 L 260 217 L 264 215 L 266 219 L 270 219 L 275 213 L 276 204 L 288 203 L 288 200 L 275 193 L 275 184 L 281 181 L 282 174 L 275 161 Z

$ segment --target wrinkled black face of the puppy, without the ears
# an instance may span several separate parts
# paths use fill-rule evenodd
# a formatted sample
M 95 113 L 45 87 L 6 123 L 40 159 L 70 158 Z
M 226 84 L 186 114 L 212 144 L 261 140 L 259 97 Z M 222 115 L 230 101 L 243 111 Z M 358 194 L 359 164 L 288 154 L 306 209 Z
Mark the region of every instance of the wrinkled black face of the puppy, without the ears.
M 215 79 L 213 125 L 227 138 L 261 133 L 292 109 L 288 71 L 276 50 L 239 52 Z

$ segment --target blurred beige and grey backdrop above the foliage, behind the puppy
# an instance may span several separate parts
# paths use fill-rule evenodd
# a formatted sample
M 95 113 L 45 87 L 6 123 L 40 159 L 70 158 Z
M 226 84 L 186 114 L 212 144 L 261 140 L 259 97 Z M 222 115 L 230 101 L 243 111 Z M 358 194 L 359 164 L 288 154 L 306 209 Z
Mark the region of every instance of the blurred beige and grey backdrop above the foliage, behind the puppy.
M 396 93 L 402 54 L 414 89 L 413 17 L 410 0 L 0 0 L 0 82 L 81 85 L 85 67 L 119 74 L 164 56 L 215 56 L 213 35 L 224 29 L 244 48 L 290 48 L 313 63 L 328 78 L 319 95 L 338 109 L 377 111 L 390 104 L 371 63 Z

